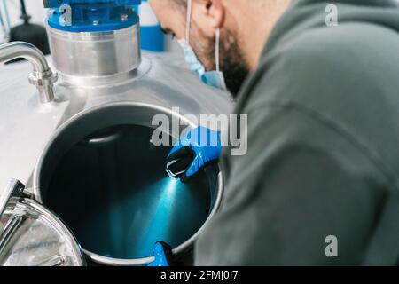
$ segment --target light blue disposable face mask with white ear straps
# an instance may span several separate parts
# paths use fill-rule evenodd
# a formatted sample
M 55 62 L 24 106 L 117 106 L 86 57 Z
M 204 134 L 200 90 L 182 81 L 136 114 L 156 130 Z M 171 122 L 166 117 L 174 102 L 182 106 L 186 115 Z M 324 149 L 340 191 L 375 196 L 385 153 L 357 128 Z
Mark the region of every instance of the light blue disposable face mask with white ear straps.
M 185 40 L 181 39 L 177 42 L 183 48 L 185 62 L 190 66 L 193 72 L 195 72 L 203 83 L 217 89 L 227 91 L 226 83 L 224 81 L 223 72 L 219 69 L 219 46 L 220 46 L 220 29 L 216 29 L 216 43 L 215 43 L 215 71 L 206 71 L 200 60 L 195 55 L 190 45 L 190 26 L 192 16 L 192 0 L 187 2 L 187 23 L 185 31 Z

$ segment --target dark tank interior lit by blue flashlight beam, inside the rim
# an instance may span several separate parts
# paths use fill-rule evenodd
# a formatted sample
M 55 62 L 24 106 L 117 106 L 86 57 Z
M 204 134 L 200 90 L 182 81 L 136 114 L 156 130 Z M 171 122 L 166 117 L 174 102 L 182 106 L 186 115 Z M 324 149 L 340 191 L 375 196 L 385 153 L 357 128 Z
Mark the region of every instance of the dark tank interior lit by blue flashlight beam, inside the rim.
M 90 144 L 109 133 L 113 140 Z M 168 177 L 171 146 L 153 146 L 152 133 L 133 124 L 100 130 L 53 165 L 43 202 L 82 248 L 113 258 L 152 256 L 156 241 L 176 248 L 207 220 L 212 178 L 202 173 L 183 184 Z

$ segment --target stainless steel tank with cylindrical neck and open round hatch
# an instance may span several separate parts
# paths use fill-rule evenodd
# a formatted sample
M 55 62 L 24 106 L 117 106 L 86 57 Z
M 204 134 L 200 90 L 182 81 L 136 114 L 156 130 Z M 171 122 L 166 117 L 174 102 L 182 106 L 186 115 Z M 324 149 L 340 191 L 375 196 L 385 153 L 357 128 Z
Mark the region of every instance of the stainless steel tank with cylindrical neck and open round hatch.
M 12 216 L 22 213 L 10 207 L 20 204 L 18 209 L 33 207 L 43 216 L 54 216 L 49 220 L 57 223 L 56 235 L 69 232 L 68 251 L 74 254 L 68 257 L 76 258 L 66 261 L 70 258 L 60 253 L 55 260 L 32 264 L 85 264 L 80 247 L 85 258 L 96 264 L 148 264 L 153 260 L 149 251 L 153 241 L 168 241 L 176 256 L 184 256 L 215 216 L 223 178 L 215 166 L 189 185 L 170 180 L 163 169 L 169 148 L 151 144 L 151 120 L 154 114 L 165 114 L 196 127 L 194 118 L 200 114 L 230 114 L 230 95 L 201 83 L 181 58 L 141 55 L 137 23 L 117 31 L 63 30 L 54 28 L 51 21 L 49 26 L 52 66 L 59 72 L 51 102 L 41 103 L 23 80 L 27 63 L 0 69 L 4 98 L 0 114 L 7 122 L 0 127 L 4 137 L 0 185 L 18 177 L 27 184 L 24 193 L 28 193 L 11 195 L 0 232 L 9 228 L 7 240 L 20 235 L 12 234 L 21 225 L 12 224 L 20 219 Z M 74 41 L 68 44 L 68 38 Z M 178 112 L 174 107 L 179 107 Z M 177 138 L 168 129 L 163 131 Z M 27 216 L 31 215 L 27 212 Z M 20 251 L 13 247 L 19 242 L 7 243 L 7 256 L 21 259 L 13 254 Z

